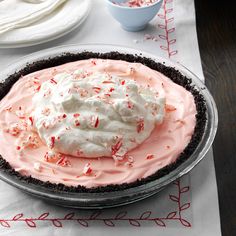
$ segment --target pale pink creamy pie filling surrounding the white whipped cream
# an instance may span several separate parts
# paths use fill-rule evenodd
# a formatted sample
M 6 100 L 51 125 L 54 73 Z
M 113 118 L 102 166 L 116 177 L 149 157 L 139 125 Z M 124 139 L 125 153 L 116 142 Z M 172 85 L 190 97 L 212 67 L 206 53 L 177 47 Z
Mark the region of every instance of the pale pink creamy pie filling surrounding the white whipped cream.
M 40 141 L 36 131 L 33 131 L 33 134 L 39 141 L 37 145 L 29 143 L 24 150 L 19 146 L 19 142 L 27 137 L 28 131 L 18 133 L 12 126 L 16 123 L 32 126 L 33 121 L 30 118 L 30 113 L 34 109 L 32 97 L 40 89 L 40 84 L 55 74 L 70 73 L 81 68 L 89 72 L 125 76 L 141 85 L 150 86 L 166 96 L 166 114 L 163 123 L 156 126 L 141 145 L 128 153 L 132 159 L 125 164 L 117 165 L 109 157 L 64 156 L 62 160 L 48 161 L 45 159 L 45 154 L 50 150 Z M 130 68 L 133 68 L 132 73 Z M 31 175 L 42 181 L 63 183 L 68 186 L 83 185 L 88 188 L 130 183 L 154 174 L 177 159 L 194 132 L 195 115 L 196 106 L 190 92 L 142 64 L 102 59 L 71 62 L 20 78 L 1 100 L 0 154 L 22 175 Z

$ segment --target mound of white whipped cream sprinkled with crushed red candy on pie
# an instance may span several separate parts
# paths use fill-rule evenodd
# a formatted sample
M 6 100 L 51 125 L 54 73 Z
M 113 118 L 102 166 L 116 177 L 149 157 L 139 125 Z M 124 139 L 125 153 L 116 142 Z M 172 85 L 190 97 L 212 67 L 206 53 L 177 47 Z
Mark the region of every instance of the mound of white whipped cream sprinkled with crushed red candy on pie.
M 42 83 L 33 97 L 34 126 L 53 151 L 123 158 L 165 115 L 165 98 L 134 80 L 76 70 Z

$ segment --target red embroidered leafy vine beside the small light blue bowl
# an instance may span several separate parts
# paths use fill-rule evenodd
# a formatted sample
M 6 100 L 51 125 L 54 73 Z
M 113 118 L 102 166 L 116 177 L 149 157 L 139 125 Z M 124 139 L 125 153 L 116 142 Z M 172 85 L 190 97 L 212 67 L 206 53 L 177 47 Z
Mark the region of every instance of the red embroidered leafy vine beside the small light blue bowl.
M 178 50 L 173 50 L 173 45 L 176 43 L 176 39 L 170 39 L 170 35 L 175 32 L 175 27 L 171 26 L 171 23 L 174 21 L 174 17 L 170 17 L 170 13 L 173 12 L 173 8 L 169 5 L 173 0 L 164 0 L 162 5 L 163 13 L 159 13 L 158 16 L 162 20 L 161 24 L 157 26 L 163 31 L 159 34 L 159 38 L 165 42 L 164 45 L 161 45 L 160 48 L 167 52 L 169 58 L 176 55 Z

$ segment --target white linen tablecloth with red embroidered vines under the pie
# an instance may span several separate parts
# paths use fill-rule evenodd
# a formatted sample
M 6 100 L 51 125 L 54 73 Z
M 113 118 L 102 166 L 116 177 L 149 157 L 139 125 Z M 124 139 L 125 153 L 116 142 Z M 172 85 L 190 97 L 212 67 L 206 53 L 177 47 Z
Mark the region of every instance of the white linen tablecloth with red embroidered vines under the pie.
M 178 61 L 203 78 L 193 0 L 164 0 L 149 27 L 126 32 L 93 0 L 80 29 L 30 48 L 0 50 L 0 68 L 23 55 L 63 44 L 105 43 L 129 46 Z M 49 205 L 0 181 L 0 235 L 201 235 L 219 236 L 220 220 L 212 150 L 191 173 L 158 195 L 101 211 Z

